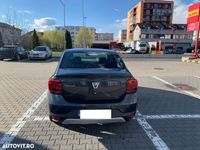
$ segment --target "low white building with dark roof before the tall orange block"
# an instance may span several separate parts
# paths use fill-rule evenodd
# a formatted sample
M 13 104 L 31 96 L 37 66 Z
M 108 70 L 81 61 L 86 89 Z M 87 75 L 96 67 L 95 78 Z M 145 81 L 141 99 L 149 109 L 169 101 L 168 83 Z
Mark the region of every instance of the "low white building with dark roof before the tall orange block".
M 130 47 L 137 41 L 144 41 L 149 44 L 150 49 L 158 49 L 159 43 L 162 44 L 162 50 L 167 46 L 174 49 L 182 47 L 184 51 L 190 48 L 192 43 L 192 32 L 186 31 L 185 24 L 172 24 L 168 28 L 158 28 L 158 26 L 146 26 L 145 24 L 136 24 L 133 31 L 134 40 L 127 42 L 126 46 Z

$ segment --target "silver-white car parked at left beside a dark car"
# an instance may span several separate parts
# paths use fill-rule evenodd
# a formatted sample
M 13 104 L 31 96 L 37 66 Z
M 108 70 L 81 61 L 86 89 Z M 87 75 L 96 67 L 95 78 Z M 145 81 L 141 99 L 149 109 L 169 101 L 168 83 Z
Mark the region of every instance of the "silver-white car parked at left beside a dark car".
M 29 59 L 48 59 L 52 57 L 52 51 L 48 46 L 37 46 L 29 53 Z

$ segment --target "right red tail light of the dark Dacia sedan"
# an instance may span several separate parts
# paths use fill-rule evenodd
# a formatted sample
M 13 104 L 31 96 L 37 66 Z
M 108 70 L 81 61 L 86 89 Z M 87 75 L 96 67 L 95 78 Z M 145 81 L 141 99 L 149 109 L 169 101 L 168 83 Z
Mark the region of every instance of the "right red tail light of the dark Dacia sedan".
M 138 89 L 138 81 L 136 79 L 128 80 L 126 83 L 126 93 L 135 93 Z

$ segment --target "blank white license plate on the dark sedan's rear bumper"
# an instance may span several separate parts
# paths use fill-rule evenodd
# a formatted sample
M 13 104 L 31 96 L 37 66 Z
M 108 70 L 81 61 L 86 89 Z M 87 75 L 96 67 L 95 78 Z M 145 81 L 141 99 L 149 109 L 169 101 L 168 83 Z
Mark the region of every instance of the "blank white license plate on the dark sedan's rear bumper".
M 80 110 L 80 119 L 111 119 L 111 110 Z

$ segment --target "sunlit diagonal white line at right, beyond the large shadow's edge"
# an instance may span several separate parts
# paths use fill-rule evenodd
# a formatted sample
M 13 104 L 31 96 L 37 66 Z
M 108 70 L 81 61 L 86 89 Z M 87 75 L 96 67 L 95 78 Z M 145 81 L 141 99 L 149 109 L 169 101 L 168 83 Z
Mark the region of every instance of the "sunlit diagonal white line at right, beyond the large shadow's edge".
M 154 79 L 156 79 L 156 80 L 158 80 L 158 81 L 161 81 L 161 82 L 163 82 L 163 83 L 165 83 L 165 84 L 167 84 L 167 85 L 169 85 L 169 86 L 171 86 L 171 87 L 173 87 L 173 88 L 179 90 L 179 92 L 181 92 L 181 93 L 185 93 L 185 94 L 187 94 L 187 95 L 190 95 L 190 96 L 192 96 L 192 97 L 195 97 L 195 98 L 197 98 L 197 99 L 200 99 L 200 95 L 195 94 L 195 93 L 192 93 L 192 92 L 187 91 L 187 90 L 183 90 L 183 89 L 181 89 L 181 88 L 179 88 L 179 87 L 177 87 L 177 86 L 175 86 L 175 85 L 173 85 L 173 84 L 171 84 L 171 83 L 169 83 L 169 82 L 167 82 L 167 81 L 165 81 L 165 80 L 163 80 L 163 79 L 161 79 L 161 78 L 159 78 L 159 77 L 157 77 L 157 76 L 152 76 L 152 78 L 154 78 Z

